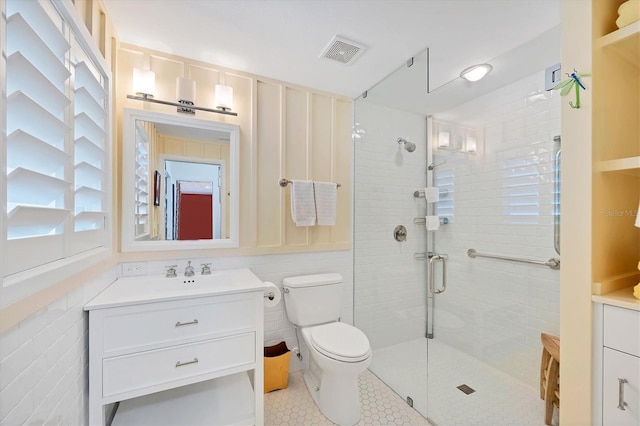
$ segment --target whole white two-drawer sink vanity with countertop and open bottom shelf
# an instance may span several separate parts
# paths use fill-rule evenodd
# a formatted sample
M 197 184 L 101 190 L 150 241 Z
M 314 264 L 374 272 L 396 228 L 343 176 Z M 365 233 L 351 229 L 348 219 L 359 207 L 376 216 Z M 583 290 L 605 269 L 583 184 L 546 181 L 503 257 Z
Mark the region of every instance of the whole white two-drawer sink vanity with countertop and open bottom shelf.
M 119 279 L 85 306 L 90 424 L 116 402 L 114 425 L 263 423 L 264 284 L 217 274 Z

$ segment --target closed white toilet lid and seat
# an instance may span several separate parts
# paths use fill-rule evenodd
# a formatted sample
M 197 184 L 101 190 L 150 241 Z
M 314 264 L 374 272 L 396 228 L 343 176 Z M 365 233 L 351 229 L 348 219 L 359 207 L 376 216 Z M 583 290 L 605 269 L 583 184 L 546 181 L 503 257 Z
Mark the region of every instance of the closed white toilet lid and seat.
M 358 362 L 370 353 L 369 339 L 359 329 L 332 322 L 311 329 L 311 343 L 324 355 L 345 362 Z

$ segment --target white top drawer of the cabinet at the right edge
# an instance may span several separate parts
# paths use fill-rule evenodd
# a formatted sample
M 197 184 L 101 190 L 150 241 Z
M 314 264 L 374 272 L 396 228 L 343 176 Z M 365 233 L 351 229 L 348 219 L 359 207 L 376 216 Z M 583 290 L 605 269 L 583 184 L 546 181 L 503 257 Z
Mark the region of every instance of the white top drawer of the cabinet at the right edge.
M 640 357 L 640 311 L 605 305 L 604 346 Z

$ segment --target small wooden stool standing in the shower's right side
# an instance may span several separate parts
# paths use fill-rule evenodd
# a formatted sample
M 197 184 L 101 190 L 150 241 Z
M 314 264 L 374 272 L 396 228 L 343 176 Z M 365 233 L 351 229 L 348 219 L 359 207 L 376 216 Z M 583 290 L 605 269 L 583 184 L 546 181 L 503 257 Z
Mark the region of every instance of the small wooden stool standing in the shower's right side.
M 551 424 L 553 407 L 560 411 L 560 338 L 541 333 L 540 399 L 544 400 L 544 423 Z

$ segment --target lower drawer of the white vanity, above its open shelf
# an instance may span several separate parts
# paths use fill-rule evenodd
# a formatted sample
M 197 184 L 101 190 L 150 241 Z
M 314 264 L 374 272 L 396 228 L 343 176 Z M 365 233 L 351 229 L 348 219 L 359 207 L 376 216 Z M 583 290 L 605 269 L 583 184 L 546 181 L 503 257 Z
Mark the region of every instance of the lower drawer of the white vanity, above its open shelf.
M 255 333 L 105 358 L 103 398 L 252 364 Z

